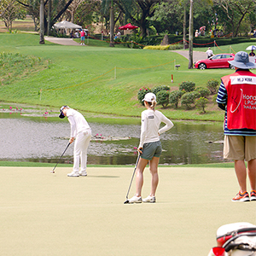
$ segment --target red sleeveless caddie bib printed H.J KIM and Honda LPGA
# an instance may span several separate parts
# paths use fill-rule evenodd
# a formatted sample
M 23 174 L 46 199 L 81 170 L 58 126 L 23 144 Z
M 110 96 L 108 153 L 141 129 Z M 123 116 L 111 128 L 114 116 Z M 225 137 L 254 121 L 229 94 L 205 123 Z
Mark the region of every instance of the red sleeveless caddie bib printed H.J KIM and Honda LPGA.
M 238 70 L 222 81 L 228 93 L 228 129 L 256 130 L 256 74 Z

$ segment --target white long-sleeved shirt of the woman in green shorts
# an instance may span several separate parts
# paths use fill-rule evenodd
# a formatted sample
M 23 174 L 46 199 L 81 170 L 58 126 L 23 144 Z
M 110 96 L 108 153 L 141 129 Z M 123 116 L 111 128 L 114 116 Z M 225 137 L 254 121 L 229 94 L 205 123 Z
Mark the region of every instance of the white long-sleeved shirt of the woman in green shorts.
M 159 129 L 161 122 L 165 123 L 166 125 Z M 172 121 L 167 119 L 166 116 L 160 111 L 154 111 L 151 109 L 144 110 L 142 113 L 141 139 L 139 148 L 143 148 L 144 143 L 154 143 L 160 141 L 159 135 L 171 129 L 172 126 Z

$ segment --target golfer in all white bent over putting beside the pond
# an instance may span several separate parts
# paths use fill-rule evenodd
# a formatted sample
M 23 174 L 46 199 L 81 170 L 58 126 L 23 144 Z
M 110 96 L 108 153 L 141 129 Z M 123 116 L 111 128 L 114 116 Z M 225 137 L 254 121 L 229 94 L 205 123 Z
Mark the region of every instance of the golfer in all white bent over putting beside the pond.
M 91 130 L 84 116 L 73 108 L 62 106 L 59 117 L 61 119 L 67 116 L 70 123 L 71 134 L 69 143 L 74 143 L 73 148 L 73 172 L 68 173 L 68 177 L 87 176 L 87 148 L 90 143 Z M 79 172 L 80 166 L 80 172 Z

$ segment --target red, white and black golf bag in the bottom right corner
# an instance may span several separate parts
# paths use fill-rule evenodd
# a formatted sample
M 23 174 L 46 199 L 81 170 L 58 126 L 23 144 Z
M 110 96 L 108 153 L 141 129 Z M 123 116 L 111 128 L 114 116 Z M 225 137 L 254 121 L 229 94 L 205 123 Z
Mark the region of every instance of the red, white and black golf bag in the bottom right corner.
M 247 222 L 225 224 L 217 230 L 217 245 L 208 256 L 256 256 L 256 226 Z

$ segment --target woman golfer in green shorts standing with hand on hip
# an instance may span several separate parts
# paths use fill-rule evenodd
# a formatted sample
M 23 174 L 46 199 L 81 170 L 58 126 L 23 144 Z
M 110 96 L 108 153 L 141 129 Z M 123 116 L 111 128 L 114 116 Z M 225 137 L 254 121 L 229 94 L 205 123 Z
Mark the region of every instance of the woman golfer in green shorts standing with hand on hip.
M 158 185 L 158 164 L 160 160 L 160 154 L 162 147 L 160 143 L 160 134 L 171 129 L 173 124 L 170 119 L 167 119 L 163 113 L 154 110 L 156 105 L 156 97 L 154 93 L 148 92 L 144 98 L 144 106 L 147 110 L 142 113 L 142 126 L 141 126 L 141 138 L 138 146 L 138 154 L 140 159 L 137 164 L 136 170 L 136 195 L 131 197 L 130 203 L 143 202 L 155 202 L 155 190 Z M 159 129 L 160 123 L 163 122 L 166 125 Z M 151 180 L 151 192 L 148 197 L 142 200 L 142 188 L 143 188 L 143 171 L 149 161 L 149 171 L 152 175 Z

